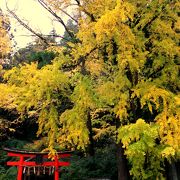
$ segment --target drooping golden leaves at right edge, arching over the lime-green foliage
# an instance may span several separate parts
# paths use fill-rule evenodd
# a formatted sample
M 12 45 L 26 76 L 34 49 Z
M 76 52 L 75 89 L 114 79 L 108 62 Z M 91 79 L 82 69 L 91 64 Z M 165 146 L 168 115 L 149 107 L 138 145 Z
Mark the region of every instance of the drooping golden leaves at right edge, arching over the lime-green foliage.
M 141 98 L 142 107 L 147 105 L 151 113 L 154 113 L 155 110 L 159 112 L 155 121 L 159 125 L 158 130 L 162 144 L 179 151 L 180 110 L 178 97 L 152 84 L 145 84 L 134 90 L 134 94 Z

